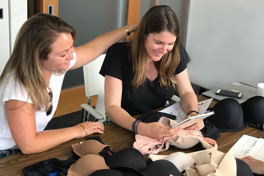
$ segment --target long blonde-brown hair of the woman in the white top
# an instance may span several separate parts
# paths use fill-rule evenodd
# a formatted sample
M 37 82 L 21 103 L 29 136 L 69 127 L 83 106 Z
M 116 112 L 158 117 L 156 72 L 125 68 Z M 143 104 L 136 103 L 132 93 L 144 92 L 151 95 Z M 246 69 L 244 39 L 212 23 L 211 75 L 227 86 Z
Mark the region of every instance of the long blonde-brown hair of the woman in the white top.
M 1 85 L 11 75 L 14 76 L 15 84 L 25 87 L 35 111 L 49 108 L 50 98 L 41 63 L 47 60 L 52 52 L 52 44 L 61 33 L 70 33 L 75 42 L 75 29 L 59 17 L 41 13 L 32 16 L 19 29 L 14 50 L 1 74 Z

